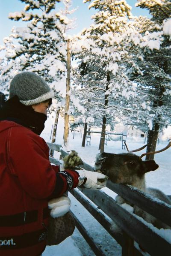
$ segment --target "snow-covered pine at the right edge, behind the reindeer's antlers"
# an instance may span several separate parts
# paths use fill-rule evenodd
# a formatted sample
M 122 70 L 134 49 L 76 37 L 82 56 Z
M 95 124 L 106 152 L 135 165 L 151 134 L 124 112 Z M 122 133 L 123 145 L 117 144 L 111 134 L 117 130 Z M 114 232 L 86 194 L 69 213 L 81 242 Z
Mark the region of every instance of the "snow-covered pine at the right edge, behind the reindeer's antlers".
M 171 1 L 139 0 L 137 6 L 149 9 L 152 18 L 137 18 L 134 31 L 128 31 L 133 45 L 127 72 L 138 89 L 131 122 L 148 130 L 149 152 L 155 151 L 158 133 L 171 123 Z

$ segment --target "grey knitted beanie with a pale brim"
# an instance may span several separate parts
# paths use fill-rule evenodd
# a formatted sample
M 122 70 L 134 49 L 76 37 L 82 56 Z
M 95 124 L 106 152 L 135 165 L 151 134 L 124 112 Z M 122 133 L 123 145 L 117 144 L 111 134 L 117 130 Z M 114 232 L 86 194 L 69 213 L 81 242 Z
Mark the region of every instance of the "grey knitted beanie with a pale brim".
M 40 76 L 22 72 L 15 75 L 9 87 L 9 98 L 15 95 L 24 105 L 32 105 L 52 98 L 54 93 Z

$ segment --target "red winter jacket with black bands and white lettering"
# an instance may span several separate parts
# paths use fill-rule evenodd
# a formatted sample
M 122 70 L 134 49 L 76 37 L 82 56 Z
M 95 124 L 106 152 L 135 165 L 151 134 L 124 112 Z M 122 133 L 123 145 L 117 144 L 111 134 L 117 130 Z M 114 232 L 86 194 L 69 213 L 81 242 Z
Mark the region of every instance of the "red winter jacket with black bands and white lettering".
M 37 256 L 46 245 L 49 198 L 77 187 L 77 172 L 51 166 L 44 139 L 0 121 L 0 256 Z

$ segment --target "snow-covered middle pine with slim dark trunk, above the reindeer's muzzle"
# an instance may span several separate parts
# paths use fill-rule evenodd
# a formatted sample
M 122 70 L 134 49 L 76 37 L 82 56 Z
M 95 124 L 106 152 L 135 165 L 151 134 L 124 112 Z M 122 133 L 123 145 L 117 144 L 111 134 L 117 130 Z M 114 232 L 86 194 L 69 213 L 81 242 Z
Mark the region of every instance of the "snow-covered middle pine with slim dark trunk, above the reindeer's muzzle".
M 123 109 L 127 111 L 126 102 L 135 94 L 134 84 L 121 64 L 125 51 L 118 44 L 127 31 L 127 18 L 131 13 L 125 0 L 94 0 L 89 8 L 93 7 L 97 9 L 92 16 L 94 24 L 77 36 L 72 50 L 80 60 L 74 76 L 79 87 L 81 84 L 77 93 L 95 124 L 102 124 L 102 152 L 106 124 L 110 123 L 113 128 L 115 117 L 121 117 Z

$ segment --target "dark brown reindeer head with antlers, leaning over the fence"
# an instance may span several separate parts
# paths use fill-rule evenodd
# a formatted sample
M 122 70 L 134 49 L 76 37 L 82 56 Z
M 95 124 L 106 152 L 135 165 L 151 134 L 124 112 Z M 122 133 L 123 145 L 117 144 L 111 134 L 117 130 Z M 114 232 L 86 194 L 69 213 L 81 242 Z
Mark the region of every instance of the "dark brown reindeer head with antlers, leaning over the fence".
M 171 142 L 168 145 L 169 146 L 161 151 L 169 148 Z M 144 147 L 146 146 L 147 145 Z M 161 151 L 145 153 L 142 154 L 141 157 L 133 154 L 133 152 L 139 151 L 144 147 L 123 154 L 97 154 L 95 169 L 107 175 L 114 183 L 133 185 L 138 179 L 141 179 L 146 172 L 155 171 L 159 167 L 154 160 L 143 161 L 142 157 L 145 154 L 155 154 Z

